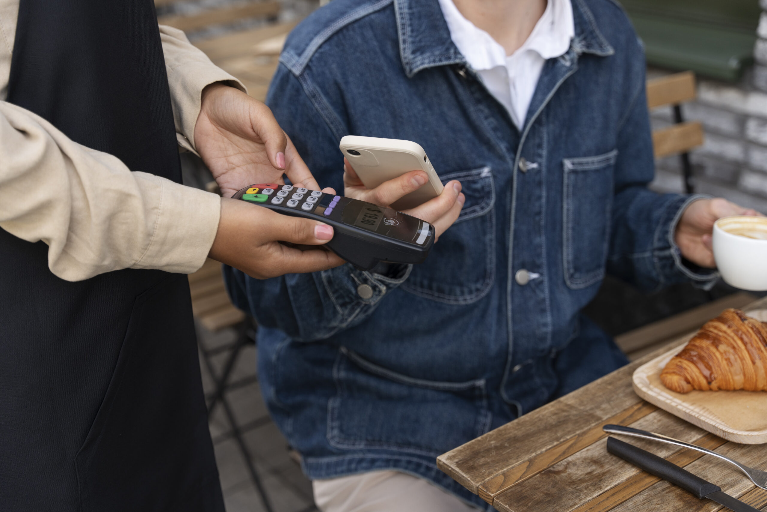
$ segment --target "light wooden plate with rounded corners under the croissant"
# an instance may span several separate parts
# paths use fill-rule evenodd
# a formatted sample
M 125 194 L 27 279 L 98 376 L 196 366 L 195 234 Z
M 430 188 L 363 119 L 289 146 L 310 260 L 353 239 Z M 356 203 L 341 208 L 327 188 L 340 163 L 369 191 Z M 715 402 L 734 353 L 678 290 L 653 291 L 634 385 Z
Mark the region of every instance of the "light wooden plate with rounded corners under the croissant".
M 749 316 L 767 322 L 767 309 L 749 311 Z M 742 444 L 767 443 L 767 392 L 765 391 L 670 391 L 660 382 L 660 372 L 692 338 L 688 335 L 663 355 L 634 372 L 634 391 L 664 411 L 697 425 L 728 441 Z

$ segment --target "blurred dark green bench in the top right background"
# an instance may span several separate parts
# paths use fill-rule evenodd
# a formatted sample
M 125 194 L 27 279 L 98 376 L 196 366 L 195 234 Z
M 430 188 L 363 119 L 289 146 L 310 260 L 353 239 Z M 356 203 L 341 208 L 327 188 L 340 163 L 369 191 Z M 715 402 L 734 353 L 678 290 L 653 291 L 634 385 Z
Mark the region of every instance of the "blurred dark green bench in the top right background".
M 757 0 L 622 0 L 647 63 L 737 81 L 753 62 Z

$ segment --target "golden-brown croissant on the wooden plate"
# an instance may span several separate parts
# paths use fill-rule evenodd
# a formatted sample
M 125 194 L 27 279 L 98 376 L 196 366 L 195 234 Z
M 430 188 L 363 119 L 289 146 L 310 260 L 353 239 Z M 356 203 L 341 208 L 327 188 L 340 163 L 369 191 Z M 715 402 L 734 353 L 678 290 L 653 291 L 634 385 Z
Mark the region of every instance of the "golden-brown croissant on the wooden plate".
M 660 382 L 677 393 L 767 391 L 767 322 L 725 309 L 671 358 Z

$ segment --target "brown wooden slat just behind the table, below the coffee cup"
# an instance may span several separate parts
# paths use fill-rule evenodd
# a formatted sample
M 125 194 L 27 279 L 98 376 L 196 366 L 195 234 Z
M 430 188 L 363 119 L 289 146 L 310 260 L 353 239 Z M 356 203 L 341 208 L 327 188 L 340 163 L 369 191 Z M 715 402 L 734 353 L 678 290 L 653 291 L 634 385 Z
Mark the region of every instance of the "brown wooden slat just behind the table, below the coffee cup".
M 727 308 L 742 308 L 757 299 L 748 292 L 736 292 L 713 302 L 703 304 L 667 319 L 653 322 L 639 329 L 615 337 L 615 343 L 625 353 L 630 354 L 649 345 L 676 339 L 687 332 L 700 327 Z

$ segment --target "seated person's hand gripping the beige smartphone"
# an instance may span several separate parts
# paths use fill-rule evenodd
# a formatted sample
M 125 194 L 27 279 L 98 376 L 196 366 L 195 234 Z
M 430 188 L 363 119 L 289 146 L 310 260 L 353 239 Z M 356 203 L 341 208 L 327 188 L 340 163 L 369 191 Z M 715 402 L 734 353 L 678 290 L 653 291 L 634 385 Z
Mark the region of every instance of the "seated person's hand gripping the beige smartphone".
M 374 189 L 365 187 L 360 177 L 344 158 L 344 196 L 351 197 L 378 206 L 390 206 L 408 193 L 413 193 L 426 183 L 426 173 L 423 170 L 411 170 L 393 180 L 385 181 Z M 449 181 L 443 187 L 442 193 L 426 203 L 414 208 L 400 210 L 402 213 L 425 220 L 434 226 L 435 239 L 456 222 L 466 197 L 461 193 L 461 183 L 458 180 Z

